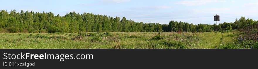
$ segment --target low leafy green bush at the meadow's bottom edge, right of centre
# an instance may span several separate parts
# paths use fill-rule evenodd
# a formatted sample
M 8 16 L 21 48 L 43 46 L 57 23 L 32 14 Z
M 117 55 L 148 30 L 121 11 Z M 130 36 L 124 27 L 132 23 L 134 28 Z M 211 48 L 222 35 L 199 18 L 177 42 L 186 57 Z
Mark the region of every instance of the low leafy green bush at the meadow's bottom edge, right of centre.
M 175 47 L 178 49 L 185 49 L 186 45 L 182 41 L 164 41 L 164 45 L 167 45 L 168 47 Z

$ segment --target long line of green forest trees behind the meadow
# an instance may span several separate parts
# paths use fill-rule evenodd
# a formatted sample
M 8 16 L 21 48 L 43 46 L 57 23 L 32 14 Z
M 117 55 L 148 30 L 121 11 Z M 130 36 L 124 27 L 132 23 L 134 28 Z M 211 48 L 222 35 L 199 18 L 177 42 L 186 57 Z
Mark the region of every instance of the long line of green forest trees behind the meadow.
M 220 23 L 218 30 L 258 28 L 258 21 L 241 17 L 234 23 Z M 211 32 L 217 25 L 170 21 L 169 24 L 143 23 L 125 17 L 76 12 L 56 16 L 52 12 L 0 11 L 1 32 Z

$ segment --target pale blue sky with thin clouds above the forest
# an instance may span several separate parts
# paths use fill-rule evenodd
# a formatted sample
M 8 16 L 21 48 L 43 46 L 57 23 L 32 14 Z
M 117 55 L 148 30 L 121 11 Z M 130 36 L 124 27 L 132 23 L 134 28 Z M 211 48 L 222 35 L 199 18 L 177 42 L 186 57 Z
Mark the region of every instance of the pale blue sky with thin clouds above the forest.
M 234 22 L 241 16 L 258 20 L 258 0 L 0 0 L 0 9 L 20 12 L 69 12 L 126 17 L 136 22 L 162 23 L 183 21 L 193 24 Z

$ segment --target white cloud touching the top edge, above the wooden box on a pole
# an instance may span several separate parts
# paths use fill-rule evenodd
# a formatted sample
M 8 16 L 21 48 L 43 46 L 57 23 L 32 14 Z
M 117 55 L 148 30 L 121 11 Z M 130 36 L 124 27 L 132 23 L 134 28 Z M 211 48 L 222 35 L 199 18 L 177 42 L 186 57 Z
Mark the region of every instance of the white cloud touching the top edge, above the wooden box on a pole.
M 192 1 L 179 1 L 176 4 L 186 5 L 186 6 L 196 6 L 196 5 L 204 5 L 207 3 L 218 3 L 218 2 L 226 2 L 225 0 L 192 0 Z

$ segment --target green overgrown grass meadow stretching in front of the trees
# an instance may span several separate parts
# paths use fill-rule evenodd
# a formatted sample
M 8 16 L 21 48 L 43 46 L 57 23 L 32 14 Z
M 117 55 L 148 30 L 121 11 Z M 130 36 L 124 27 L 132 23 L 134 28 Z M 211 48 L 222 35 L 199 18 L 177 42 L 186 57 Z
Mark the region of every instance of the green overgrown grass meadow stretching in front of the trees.
M 230 32 L 0 33 L 0 48 L 212 49 L 234 37 Z

